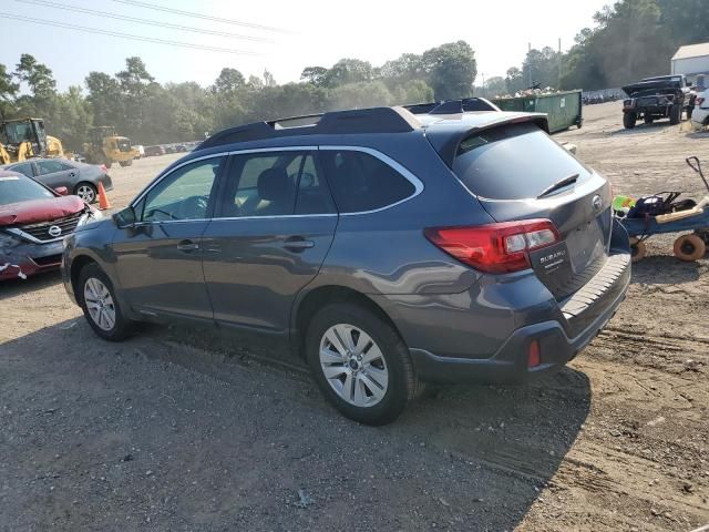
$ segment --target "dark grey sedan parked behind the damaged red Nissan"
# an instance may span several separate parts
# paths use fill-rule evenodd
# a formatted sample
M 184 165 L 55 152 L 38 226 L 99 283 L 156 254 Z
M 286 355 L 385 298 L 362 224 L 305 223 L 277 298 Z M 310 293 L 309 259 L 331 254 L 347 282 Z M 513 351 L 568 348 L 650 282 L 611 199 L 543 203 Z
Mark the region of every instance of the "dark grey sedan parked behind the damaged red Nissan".
M 94 203 L 97 200 L 99 183 L 103 183 L 106 191 L 113 188 L 113 182 L 103 165 L 78 163 L 64 158 L 30 158 L 21 163 L 8 164 L 3 168 L 33 177 L 50 188 L 65 186 L 71 194 L 78 195 L 86 203 Z

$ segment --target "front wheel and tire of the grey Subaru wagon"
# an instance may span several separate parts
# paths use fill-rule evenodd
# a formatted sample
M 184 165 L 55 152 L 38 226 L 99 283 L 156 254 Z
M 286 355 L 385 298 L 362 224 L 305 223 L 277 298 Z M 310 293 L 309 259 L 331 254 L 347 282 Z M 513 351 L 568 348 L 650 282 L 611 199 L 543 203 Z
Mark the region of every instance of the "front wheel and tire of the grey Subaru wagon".
M 97 336 L 121 341 L 131 334 L 133 323 L 123 314 L 111 279 L 97 264 L 82 268 L 76 291 L 84 317 Z

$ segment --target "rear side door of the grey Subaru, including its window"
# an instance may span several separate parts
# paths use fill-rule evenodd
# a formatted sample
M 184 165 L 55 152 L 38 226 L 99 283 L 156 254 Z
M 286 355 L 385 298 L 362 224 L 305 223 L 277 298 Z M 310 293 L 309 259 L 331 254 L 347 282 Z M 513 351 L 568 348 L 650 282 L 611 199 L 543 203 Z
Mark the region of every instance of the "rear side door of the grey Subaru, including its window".
M 315 147 L 233 155 L 204 234 L 204 274 L 222 324 L 286 334 L 296 295 L 330 248 L 337 211 Z

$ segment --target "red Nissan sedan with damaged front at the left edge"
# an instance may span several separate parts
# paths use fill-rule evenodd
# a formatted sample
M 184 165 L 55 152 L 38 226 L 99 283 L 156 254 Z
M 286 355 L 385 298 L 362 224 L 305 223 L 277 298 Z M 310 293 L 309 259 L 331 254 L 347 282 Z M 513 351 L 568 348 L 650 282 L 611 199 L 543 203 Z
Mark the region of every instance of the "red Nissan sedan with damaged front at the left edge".
M 0 170 L 0 280 L 58 268 L 64 237 L 89 217 L 101 216 L 66 192 Z

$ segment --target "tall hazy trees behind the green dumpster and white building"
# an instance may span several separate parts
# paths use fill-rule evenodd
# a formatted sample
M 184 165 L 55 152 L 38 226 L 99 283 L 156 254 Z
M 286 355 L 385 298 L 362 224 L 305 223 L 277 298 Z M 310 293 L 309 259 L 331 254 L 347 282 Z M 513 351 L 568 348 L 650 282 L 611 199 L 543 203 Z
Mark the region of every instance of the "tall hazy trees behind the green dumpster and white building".
M 670 59 L 685 44 L 709 41 L 707 0 L 619 0 L 594 16 L 574 45 L 559 53 L 532 49 L 521 66 L 485 80 L 479 93 L 514 94 L 544 89 L 609 89 L 670 73 Z

